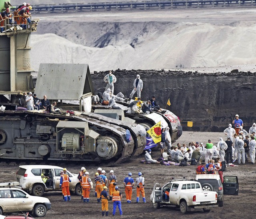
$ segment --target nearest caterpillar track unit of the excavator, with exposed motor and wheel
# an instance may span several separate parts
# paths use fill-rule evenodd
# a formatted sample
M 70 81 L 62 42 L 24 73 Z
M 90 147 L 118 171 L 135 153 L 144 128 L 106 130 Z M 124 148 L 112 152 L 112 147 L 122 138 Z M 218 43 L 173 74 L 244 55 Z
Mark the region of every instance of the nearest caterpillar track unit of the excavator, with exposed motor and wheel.
M 145 135 L 141 125 L 95 113 L 0 111 L 2 159 L 120 163 L 143 152 Z

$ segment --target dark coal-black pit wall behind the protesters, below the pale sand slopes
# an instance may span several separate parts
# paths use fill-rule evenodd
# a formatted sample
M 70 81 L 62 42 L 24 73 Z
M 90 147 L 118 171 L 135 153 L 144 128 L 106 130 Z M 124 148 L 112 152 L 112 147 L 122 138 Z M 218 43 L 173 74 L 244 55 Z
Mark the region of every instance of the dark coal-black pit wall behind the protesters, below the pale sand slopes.
M 95 93 L 104 92 L 107 72 L 94 72 Z M 182 121 L 193 121 L 193 127 L 184 130 L 223 131 L 239 114 L 248 131 L 255 122 L 256 73 L 197 73 L 164 70 L 117 70 L 114 94 L 122 92 L 129 97 L 136 75 L 144 86 L 142 100 L 156 96 L 157 103 L 172 111 Z M 135 97 L 135 95 L 134 95 Z M 171 106 L 166 106 L 170 98 Z

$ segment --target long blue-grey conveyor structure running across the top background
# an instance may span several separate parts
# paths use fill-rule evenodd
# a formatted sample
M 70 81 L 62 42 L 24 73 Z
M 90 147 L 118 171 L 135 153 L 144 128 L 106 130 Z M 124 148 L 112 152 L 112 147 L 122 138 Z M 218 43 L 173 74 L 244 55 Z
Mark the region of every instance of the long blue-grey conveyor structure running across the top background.
M 74 4 L 40 4 L 33 5 L 34 13 L 50 12 L 80 12 L 98 10 L 150 10 L 150 9 L 176 9 L 176 8 L 205 8 L 230 6 L 256 6 L 256 0 L 152 0 L 152 1 L 126 1 L 126 2 L 98 2 Z

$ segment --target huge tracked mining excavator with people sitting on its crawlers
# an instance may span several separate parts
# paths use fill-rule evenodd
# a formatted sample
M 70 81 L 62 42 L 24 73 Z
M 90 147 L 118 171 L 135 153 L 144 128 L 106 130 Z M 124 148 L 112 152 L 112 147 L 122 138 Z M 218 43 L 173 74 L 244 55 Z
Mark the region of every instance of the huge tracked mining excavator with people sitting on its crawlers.
M 10 2 L 0 0 L 1 11 L 5 8 L 14 10 Z M 25 23 L 26 29 L 21 30 L 5 20 L 0 33 L 0 104 L 5 107 L 0 111 L 0 159 L 119 163 L 140 155 L 146 145 L 145 125 L 150 127 L 159 118 L 130 115 L 143 126 L 126 121 L 127 115 L 118 120 L 92 113 L 94 88 L 88 64 L 41 64 L 34 86 L 30 35 L 37 23 Z M 75 115 L 16 110 L 24 92 L 35 92 L 39 98 L 46 95 L 50 102 L 60 104 L 79 100 L 80 110 Z M 178 118 L 172 113 L 161 117 L 175 141 Z

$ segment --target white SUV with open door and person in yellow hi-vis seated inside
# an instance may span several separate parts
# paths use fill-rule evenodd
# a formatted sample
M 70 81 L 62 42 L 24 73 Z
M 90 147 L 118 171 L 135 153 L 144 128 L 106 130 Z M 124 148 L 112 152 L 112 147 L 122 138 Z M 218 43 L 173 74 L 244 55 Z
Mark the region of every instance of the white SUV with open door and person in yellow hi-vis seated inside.
M 16 173 L 16 181 L 19 185 L 16 188 L 28 191 L 30 194 L 35 196 L 44 195 L 45 191 L 58 191 L 60 188 L 60 172 L 63 170 L 62 167 L 51 166 L 51 165 L 22 165 Z M 48 182 L 44 183 L 42 180 L 42 173 L 50 178 L 52 186 L 49 186 Z M 78 180 L 78 174 L 73 174 L 67 171 L 71 179 L 69 189 L 76 195 L 82 195 L 82 189 L 80 181 Z

